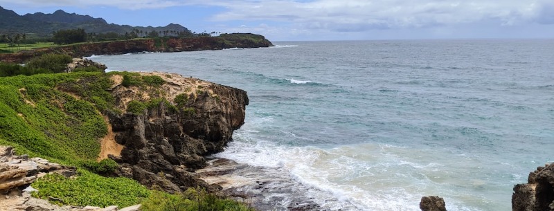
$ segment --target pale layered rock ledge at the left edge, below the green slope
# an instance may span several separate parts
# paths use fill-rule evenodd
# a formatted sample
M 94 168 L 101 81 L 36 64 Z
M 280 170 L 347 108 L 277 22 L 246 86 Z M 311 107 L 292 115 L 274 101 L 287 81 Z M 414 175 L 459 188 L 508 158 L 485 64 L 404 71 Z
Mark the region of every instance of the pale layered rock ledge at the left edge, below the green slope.
M 67 177 L 76 174 L 75 167 L 50 163 L 42 158 L 28 158 L 26 155 L 15 156 L 12 147 L 0 146 L 0 194 L 17 187 L 27 187 L 40 176 L 54 172 Z

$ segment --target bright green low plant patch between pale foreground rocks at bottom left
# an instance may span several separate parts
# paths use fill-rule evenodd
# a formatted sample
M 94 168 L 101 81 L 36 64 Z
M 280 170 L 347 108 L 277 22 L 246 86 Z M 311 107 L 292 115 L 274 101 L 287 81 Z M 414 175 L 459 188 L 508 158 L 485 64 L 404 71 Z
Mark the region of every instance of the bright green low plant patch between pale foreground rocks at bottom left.
M 125 208 L 150 196 L 150 190 L 130 178 L 106 178 L 81 169 L 78 174 L 77 178 L 66 178 L 61 174 L 48 174 L 39 178 L 33 183 L 33 187 L 39 190 L 33 192 L 33 196 L 62 200 L 52 203 L 101 208 L 109 205 Z

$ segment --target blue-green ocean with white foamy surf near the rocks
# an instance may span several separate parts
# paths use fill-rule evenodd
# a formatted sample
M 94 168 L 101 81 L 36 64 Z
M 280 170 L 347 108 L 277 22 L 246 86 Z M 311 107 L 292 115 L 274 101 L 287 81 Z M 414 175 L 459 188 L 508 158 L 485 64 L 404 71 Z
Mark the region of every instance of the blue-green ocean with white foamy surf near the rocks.
M 274 42 L 93 56 L 247 91 L 229 176 L 286 210 L 511 210 L 512 187 L 554 162 L 554 40 Z M 250 186 L 249 186 L 250 185 Z M 298 203 L 298 202 L 296 202 Z

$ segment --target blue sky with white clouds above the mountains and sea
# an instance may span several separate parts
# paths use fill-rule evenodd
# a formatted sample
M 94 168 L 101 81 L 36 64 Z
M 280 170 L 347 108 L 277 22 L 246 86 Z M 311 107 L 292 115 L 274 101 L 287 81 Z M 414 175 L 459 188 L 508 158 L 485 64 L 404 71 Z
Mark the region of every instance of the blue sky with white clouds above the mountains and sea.
M 553 39 L 554 0 L 0 0 L 19 15 L 256 33 L 271 41 Z

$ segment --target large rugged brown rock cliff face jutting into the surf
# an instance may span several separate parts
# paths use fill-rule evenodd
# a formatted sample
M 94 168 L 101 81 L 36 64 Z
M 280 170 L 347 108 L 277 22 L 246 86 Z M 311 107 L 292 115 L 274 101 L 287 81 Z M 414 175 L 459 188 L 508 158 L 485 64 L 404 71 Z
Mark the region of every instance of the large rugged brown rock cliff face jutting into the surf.
M 197 186 L 219 190 L 189 171 L 204 167 L 203 156 L 221 152 L 244 123 L 246 92 L 177 74 L 144 74 L 157 74 L 168 82 L 155 91 L 116 84 L 112 95 L 121 110 L 131 100 L 151 98 L 145 93 L 163 92 L 170 101 L 186 95 L 187 100 L 179 107 L 160 102 L 142 113 L 107 113 L 115 141 L 124 146 L 119 155 L 110 156 L 121 164 L 117 174 L 168 192 Z

